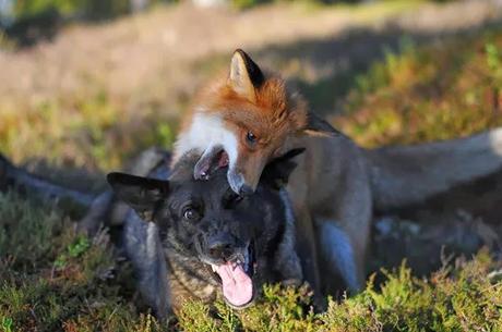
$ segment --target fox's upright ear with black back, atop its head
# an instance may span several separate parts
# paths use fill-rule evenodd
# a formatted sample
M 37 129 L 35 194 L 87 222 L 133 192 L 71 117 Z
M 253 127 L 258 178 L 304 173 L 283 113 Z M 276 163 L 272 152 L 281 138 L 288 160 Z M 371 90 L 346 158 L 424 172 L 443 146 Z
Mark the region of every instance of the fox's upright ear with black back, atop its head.
M 230 63 L 228 84 L 240 96 L 249 101 L 256 100 L 255 88 L 259 88 L 265 77 L 256 63 L 241 49 L 234 52 Z

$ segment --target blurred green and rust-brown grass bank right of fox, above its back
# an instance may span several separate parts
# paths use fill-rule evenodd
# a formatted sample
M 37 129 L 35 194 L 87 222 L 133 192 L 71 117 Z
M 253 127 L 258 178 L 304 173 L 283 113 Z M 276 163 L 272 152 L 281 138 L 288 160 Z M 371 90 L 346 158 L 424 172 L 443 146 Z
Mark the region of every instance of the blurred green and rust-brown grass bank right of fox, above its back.
M 356 79 L 335 123 L 363 146 L 466 136 L 502 125 L 502 34 L 401 52 Z

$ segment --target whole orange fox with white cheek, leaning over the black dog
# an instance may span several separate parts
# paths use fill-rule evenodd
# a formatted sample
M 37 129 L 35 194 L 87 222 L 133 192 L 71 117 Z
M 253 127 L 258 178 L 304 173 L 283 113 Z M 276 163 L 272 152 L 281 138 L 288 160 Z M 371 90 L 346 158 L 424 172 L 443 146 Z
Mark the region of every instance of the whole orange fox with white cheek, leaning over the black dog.
M 349 293 L 363 287 L 375 211 L 420 202 L 502 168 L 502 128 L 421 145 L 359 147 L 241 49 L 229 72 L 196 94 L 172 161 L 195 150 L 201 155 L 195 179 L 227 168 L 229 186 L 246 196 L 267 162 L 298 148 L 304 152 L 296 157 L 286 192 L 303 274 L 314 293 L 331 290 L 334 281 Z

